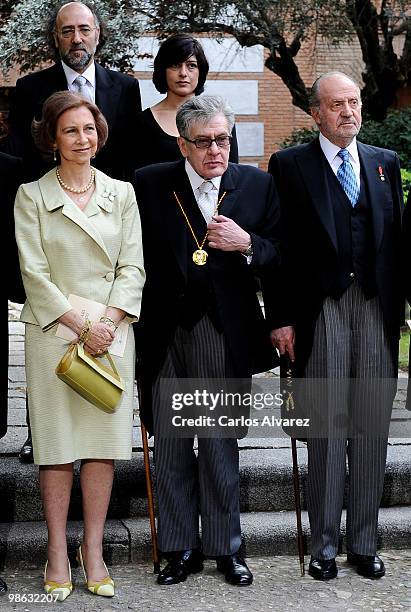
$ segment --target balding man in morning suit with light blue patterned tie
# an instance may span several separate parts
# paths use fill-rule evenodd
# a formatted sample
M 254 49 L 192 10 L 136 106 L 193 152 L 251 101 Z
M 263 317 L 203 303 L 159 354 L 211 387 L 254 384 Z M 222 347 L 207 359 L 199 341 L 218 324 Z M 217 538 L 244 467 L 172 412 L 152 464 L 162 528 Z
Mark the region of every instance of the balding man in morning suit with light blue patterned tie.
M 281 296 L 274 293 L 266 313 L 274 344 L 295 359 L 295 375 L 327 381 L 321 405 L 327 434 L 308 433 L 307 443 L 309 573 L 321 580 L 337 575 L 348 452 L 347 560 L 359 574 L 379 578 L 385 570 L 376 555 L 378 508 L 403 310 L 399 160 L 393 151 L 356 141 L 361 98 L 348 76 L 317 79 L 311 110 L 319 138 L 274 154 L 269 164 L 286 263 Z M 350 401 L 337 393 L 342 381 Z M 361 381 L 375 382 L 362 400 Z M 346 435 L 343 425 L 353 417 L 365 423 L 362 435 Z

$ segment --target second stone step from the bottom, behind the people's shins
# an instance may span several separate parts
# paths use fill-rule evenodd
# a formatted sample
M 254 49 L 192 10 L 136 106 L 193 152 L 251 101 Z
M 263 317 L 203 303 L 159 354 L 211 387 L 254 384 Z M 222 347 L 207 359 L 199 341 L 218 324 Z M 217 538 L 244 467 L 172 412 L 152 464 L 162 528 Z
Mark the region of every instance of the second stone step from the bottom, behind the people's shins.
M 289 445 L 289 441 L 284 441 Z M 411 445 L 388 447 L 382 506 L 411 506 Z M 151 455 L 151 453 L 150 453 Z M 298 449 L 301 499 L 306 507 L 307 451 Z M 78 470 L 69 510 L 71 520 L 80 519 L 81 495 Z M 23 465 L 16 457 L 3 457 L 0 462 L 2 503 L 0 522 L 43 520 L 38 487 L 38 468 Z M 109 518 L 134 518 L 147 515 L 144 462 L 141 451 L 131 461 L 116 462 L 115 481 Z M 242 448 L 240 450 L 240 506 L 242 512 L 288 511 L 294 508 L 291 452 L 283 448 Z

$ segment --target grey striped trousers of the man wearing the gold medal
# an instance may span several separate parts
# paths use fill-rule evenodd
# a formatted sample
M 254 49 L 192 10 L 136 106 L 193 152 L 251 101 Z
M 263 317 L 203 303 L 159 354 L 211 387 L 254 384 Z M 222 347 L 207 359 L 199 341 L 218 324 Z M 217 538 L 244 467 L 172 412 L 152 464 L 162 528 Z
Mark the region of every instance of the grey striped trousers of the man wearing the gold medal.
M 192 330 L 177 328 L 153 385 L 154 459 L 158 540 L 163 553 L 200 547 L 207 556 L 229 555 L 241 545 L 239 458 L 236 438 L 163 435 L 162 378 L 232 378 L 225 339 L 203 317 Z

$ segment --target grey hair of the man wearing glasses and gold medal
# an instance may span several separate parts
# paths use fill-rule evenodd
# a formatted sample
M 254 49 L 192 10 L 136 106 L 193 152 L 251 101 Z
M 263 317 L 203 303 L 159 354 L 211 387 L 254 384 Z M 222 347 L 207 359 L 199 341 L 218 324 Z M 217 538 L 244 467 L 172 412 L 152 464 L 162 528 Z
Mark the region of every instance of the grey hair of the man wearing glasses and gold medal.
M 234 127 L 234 112 L 220 96 L 194 96 L 184 102 L 177 111 L 176 123 L 180 136 L 190 137 L 193 123 L 206 125 L 216 115 L 223 115 L 227 120 L 228 131 Z

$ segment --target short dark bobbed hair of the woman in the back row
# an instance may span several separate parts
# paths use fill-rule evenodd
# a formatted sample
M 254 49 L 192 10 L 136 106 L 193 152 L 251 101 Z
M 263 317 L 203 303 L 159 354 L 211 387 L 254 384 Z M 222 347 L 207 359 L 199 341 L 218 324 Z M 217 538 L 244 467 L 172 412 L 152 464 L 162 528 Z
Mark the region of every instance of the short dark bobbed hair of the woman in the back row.
M 173 34 L 161 43 L 154 59 L 153 83 L 157 91 L 167 93 L 166 68 L 185 62 L 192 55 L 198 64 L 198 84 L 194 90 L 196 96 L 204 91 L 204 83 L 208 74 L 208 61 L 203 47 L 198 40 L 189 34 Z

